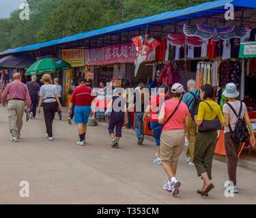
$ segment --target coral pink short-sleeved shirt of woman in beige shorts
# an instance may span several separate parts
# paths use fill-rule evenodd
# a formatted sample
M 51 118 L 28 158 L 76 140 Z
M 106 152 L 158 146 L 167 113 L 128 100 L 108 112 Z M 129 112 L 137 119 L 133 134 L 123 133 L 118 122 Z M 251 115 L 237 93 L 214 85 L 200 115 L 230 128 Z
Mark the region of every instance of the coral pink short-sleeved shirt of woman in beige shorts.
M 162 104 L 161 111 L 165 110 L 165 122 L 172 114 L 173 110 L 177 107 L 179 103 L 178 99 L 169 99 L 164 104 Z M 173 117 L 165 124 L 162 128 L 163 131 L 185 129 L 185 118 L 188 116 L 188 106 L 184 102 L 180 103 L 179 108 L 173 115 Z

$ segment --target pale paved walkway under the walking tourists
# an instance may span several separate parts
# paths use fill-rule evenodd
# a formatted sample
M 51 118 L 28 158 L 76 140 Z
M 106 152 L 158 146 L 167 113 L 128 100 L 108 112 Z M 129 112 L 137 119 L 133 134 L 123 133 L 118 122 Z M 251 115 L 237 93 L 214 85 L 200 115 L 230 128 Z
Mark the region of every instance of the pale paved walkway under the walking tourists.
M 227 180 L 226 166 L 214 161 L 216 188 L 201 198 L 195 168 L 180 159 L 177 177 L 180 196 L 162 190 L 166 176 L 152 163 L 155 146 L 138 146 L 125 135 L 120 149 L 111 149 L 103 127 L 89 127 L 87 146 L 76 146 L 76 126 L 54 121 L 53 142 L 44 138 L 42 116 L 25 123 L 22 138 L 10 142 L 5 108 L 0 106 L 0 204 L 248 204 L 256 203 L 256 172 L 238 168 L 240 193 L 226 198 L 221 187 Z M 20 198 L 19 183 L 28 181 L 30 197 Z

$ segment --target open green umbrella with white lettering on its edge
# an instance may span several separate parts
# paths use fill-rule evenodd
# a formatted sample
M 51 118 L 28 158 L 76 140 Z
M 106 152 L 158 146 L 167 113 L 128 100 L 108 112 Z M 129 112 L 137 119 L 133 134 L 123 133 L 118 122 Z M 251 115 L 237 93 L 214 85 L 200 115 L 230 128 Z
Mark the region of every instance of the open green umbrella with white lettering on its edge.
M 71 65 L 60 59 L 42 59 L 33 63 L 25 72 L 25 75 L 51 74 L 56 71 L 70 69 Z

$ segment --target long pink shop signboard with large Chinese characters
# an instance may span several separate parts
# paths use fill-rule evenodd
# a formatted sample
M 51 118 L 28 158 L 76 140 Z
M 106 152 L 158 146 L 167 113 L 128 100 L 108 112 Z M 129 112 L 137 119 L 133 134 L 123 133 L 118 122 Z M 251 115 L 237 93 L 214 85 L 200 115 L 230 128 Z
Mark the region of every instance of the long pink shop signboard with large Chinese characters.
M 96 66 L 115 63 L 134 63 L 136 59 L 137 50 L 136 46 L 132 43 L 85 50 L 85 65 Z M 146 61 L 154 61 L 154 59 L 155 51 L 152 49 Z

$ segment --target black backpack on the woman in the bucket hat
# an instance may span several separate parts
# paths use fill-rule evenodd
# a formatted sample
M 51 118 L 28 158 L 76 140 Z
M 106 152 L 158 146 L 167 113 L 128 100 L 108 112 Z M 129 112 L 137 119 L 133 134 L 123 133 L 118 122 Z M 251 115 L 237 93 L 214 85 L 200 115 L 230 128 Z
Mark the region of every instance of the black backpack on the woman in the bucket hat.
M 229 131 L 231 133 L 231 138 L 233 142 L 236 144 L 240 144 L 242 142 L 247 142 L 250 140 L 250 134 L 246 125 L 246 122 L 244 119 L 242 119 L 241 114 L 242 114 L 242 102 L 240 106 L 240 111 L 239 114 L 236 113 L 236 110 L 231 106 L 231 104 L 227 103 L 229 108 L 233 110 L 233 113 L 238 117 L 238 121 L 236 121 L 236 127 L 234 130 L 232 130 L 231 125 L 229 123 Z

